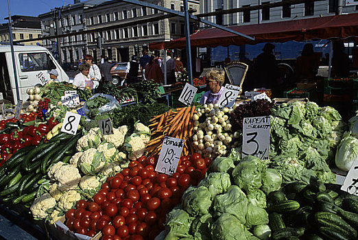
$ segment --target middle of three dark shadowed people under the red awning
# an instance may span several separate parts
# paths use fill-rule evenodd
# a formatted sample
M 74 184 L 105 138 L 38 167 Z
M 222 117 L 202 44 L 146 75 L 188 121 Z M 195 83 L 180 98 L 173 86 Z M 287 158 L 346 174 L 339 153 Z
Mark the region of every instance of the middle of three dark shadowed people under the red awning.
M 305 44 L 301 56 L 297 58 L 296 62 L 297 80 L 314 80 L 318 72 L 319 61 L 320 58 L 313 51 L 313 45 L 311 43 Z

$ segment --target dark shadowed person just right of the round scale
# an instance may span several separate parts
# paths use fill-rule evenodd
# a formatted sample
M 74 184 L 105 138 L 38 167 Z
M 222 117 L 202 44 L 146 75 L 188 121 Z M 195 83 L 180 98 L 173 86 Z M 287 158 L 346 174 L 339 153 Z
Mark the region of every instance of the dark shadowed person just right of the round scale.
M 263 53 L 254 60 L 255 88 L 272 89 L 277 84 L 279 72 L 274 48 L 273 44 L 266 43 L 262 49 Z

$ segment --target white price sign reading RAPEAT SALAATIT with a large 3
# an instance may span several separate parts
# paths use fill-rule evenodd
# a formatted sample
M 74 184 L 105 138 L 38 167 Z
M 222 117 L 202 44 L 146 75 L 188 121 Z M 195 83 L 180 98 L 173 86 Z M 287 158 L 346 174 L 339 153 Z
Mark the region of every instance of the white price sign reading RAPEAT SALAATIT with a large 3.
M 243 118 L 242 157 L 252 155 L 268 159 L 270 151 L 270 116 Z

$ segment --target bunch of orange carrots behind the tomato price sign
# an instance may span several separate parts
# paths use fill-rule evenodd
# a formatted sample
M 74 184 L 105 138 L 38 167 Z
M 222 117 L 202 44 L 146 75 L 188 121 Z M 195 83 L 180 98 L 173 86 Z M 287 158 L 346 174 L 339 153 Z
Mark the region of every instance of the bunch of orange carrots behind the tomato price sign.
M 150 119 L 151 124 L 149 127 L 151 128 L 152 135 L 150 136 L 150 142 L 145 147 L 148 155 L 154 156 L 160 153 L 164 136 L 184 139 L 182 155 L 193 154 L 194 149 L 188 140 L 193 136 L 193 115 L 195 112 L 195 106 L 189 106 L 169 110 Z

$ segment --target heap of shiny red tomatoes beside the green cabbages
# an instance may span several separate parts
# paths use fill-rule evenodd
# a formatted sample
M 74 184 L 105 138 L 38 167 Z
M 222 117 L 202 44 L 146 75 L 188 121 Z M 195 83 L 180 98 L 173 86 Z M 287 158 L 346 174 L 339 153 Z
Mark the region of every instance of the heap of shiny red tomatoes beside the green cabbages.
M 182 156 L 176 173 L 168 176 L 154 171 L 156 161 L 142 156 L 108 178 L 93 201 L 80 200 L 67 211 L 66 226 L 90 237 L 101 231 L 104 240 L 154 239 L 164 229 L 166 214 L 211 165 L 200 154 Z

